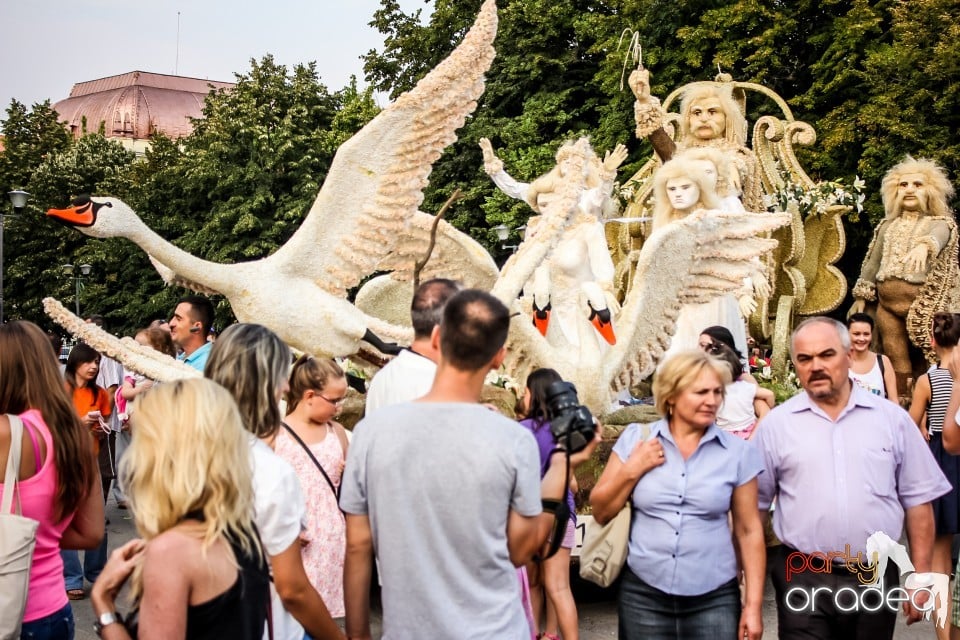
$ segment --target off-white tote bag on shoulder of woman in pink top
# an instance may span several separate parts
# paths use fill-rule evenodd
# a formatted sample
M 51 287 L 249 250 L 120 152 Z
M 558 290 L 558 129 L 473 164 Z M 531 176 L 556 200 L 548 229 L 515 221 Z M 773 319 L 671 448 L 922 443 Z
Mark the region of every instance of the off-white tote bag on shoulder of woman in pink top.
M 17 471 L 20 469 L 23 423 L 14 415 L 7 414 L 7 419 L 10 420 L 10 454 L 3 479 L 3 497 L 0 498 L 0 611 L 3 612 L 0 638 L 12 640 L 20 637 L 23 612 L 27 608 L 30 563 L 40 523 L 20 515 Z M 14 493 L 17 494 L 16 513 L 11 511 Z

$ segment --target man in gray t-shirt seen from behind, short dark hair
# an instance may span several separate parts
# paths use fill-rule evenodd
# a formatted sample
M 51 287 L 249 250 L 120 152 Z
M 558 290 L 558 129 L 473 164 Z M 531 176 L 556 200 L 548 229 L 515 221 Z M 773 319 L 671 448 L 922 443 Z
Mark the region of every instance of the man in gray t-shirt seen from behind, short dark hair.
M 484 377 L 503 361 L 509 324 L 509 311 L 493 296 L 470 289 L 455 295 L 431 336 L 440 360 L 427 395 L 355 428 L 340 497 L 350 638 L 370 638 L 374 550 L 385 637 L 529 635 L 515 568 L 553 527 L 567 453 L 551 456 L 541 482 L 530 433 L 480 404 Z M 571 451 L 570 468 L 597 442 L 599 430 Z

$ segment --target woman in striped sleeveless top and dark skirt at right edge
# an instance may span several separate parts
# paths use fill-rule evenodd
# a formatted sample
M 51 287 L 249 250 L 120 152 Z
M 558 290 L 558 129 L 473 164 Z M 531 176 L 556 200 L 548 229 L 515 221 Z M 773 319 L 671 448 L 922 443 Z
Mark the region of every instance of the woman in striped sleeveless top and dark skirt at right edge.
M 943 418 L 953 387 L 953 376 L 946 365 L 953 356 L 957 342 L 960 342 L 960 315 L 945 312 L 934 314 L 931 333 L 937 365 L 930 367 L 917 379 L 913 402 L 910 403 L 910 417 L 930 443 L 934 458 L 953 487 L 950 493 L 933 501 L 937 537 L 933 544 L 931 571 L 949 575 L 952 569 L 950 551 L 953 535 L 960 533 L 960 498 L 957 492 L 960 486 L 960 458 L 947 453 L 943 447 Z M 938 638 L 945 640 L 949 637 L 948 632 L 947 628 L 937 627 Z

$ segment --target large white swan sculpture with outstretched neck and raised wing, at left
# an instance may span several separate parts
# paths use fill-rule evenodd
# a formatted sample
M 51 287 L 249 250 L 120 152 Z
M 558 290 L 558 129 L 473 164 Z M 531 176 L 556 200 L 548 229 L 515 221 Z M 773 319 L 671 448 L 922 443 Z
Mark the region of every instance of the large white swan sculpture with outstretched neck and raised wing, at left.
M 486 0 L 456 50 L 339 148 L 303 224 L 266 258 L 202 260 L 115 198 L 81 199 L 47 215 L 95 238 L 131 240 L 168 281 L 223 294 L 239 320 L 268 325 L 303 351 L 340 356 L 363 342 L 380 348 L 378 337 L 408 342 L 409 328 L 363 313 L 346 292 L 382 264 L 403 262 L 403 239 L 423 234 L 423 188 L 483 93 L 496 30 L 496 4 Z

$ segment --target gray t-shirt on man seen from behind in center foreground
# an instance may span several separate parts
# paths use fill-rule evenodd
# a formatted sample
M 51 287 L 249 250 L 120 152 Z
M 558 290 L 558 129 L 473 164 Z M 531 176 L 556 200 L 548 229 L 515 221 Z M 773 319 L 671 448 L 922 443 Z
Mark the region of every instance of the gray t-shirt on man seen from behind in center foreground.
M 354 429 L 341 508 L 370 518 L 384 640 L 529 638 L 507 516 L 541 512 L 529 431 L 480 405 L 404 403 Z

